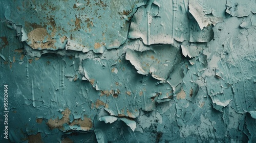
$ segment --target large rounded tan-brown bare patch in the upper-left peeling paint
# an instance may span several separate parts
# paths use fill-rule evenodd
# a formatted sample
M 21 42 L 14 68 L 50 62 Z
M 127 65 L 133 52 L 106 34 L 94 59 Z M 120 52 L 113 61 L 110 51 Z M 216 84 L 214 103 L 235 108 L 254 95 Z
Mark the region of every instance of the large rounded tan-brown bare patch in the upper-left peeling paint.
M 51 38 L 45 28 L 37 28 L 28 33 L 27 42 L 32 49 L 56 49 L 56 40 Z

